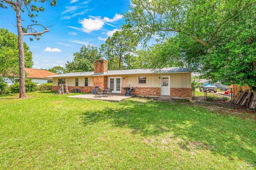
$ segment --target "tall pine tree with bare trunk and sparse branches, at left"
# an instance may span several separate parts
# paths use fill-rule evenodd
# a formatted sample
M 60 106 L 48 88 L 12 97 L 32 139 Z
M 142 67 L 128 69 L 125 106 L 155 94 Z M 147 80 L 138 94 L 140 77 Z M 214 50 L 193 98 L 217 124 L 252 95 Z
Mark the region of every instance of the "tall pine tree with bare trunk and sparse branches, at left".
M 20 72 L 20 97 L 19 98 L 26 98 L 26 87 L 25 87 L 25 52 L 24 52 L 24 43 L 23 37 L 24 35 L 33 35 L 34 39 L 39 40 L 40 36 L 43 33 L 49 31 L 49 29 L 41 24 L 38 24 L 35 17 L 38 14 L 34 14 L 34 12 L 44 12 L 44 8 L 42 6 L 37 7 L 35 4 L 39 2 L 50 2 L 51 6 L 56 6 L 56 0 L 0 0 L 0 7 L 7 8 L 7 4 L 10 5 L 10 8 L 16 12 L 16 20 L 17 20 L 17 29 L 18 29 L 18 49 L 19 49 L 19 72 Z M 22 19 L 21 19 L 21 12 L 27 12 L 30 20 L 34 23 L 28 25 L 27 28 L 22 27 Z M 37 32 L 34 26 L 43 27 L 44 30 L 41 32 Z M 33 39 L 30 38 L 32 41 Z

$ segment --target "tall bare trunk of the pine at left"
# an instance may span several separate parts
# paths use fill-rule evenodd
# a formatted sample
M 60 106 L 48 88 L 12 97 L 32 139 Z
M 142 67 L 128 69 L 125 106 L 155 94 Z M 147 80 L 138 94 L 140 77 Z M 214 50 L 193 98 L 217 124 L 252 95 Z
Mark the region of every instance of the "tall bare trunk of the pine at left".
M 22 32 L 22 20 L 20 16 L 20 0 L 17 0 L 16 5 L 16 19 L 18 29 L 18 49 L 19 49 L 19 68 L 20 68 L 20 97 L 26 98 L 26 87 L 25 87 L 25 54 L 23 47 L 23 32 Z

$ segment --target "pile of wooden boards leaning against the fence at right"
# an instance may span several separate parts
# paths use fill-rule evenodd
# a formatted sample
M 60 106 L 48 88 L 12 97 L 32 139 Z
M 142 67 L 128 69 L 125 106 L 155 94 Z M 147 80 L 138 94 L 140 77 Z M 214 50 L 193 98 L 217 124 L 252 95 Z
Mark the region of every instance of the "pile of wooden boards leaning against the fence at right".
M 239 91 L 232 103 L 256 109 L 256 96 L 252 92 Z

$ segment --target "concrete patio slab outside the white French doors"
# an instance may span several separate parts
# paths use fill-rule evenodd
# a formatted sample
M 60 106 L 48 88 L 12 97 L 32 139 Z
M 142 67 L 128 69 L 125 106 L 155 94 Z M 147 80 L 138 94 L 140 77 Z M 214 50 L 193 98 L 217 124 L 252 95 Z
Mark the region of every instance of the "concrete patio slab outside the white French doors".
M 131 98 L 133 96 L 124 96 L 124 95 L 114 95 L 114 96 L 108 96 L 108 97 L 95 97 L 95 94 L 80 94 L 75 96 L 68 96 L 69 98 L 82 98 L 82 99 L 91 99 L 91 100 L 104 100 L 108 102 L 122 102 L 123 100 L 126 100 L 128 98 Z

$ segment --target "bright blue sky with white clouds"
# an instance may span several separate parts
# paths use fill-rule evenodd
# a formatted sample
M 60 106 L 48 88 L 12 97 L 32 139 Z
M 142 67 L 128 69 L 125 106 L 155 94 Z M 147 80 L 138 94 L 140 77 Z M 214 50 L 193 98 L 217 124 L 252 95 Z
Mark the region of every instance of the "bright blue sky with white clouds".
M 56 7 L 43 4 L 45 12 L 38 14 L 38 23 L 50 26 L 40 41 L 24 41 L 33 53 L 33 68 L 65 66 L 72 61 L 73 53 L 82 45 L 100 47 L 108 36 L 120 29 L 124 19 L 120 14 L 129 10 L 129 0 L 57 0 Z M 17 34 L 15 12 L 10 8 L 0 9 L 0 28 Z M 26 13 L 22 25 L 31 24 Z M 40 31 L 40 27 L 36 28 Z

